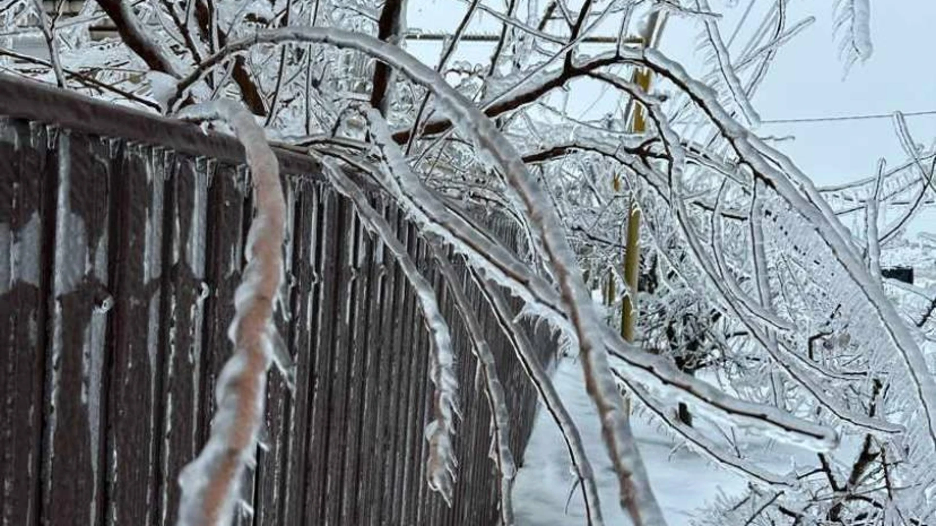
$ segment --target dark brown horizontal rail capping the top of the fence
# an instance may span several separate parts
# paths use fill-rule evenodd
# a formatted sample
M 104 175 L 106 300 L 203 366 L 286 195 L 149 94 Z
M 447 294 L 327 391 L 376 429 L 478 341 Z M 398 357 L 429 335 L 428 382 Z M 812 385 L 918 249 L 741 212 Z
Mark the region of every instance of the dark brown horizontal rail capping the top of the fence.
M 118 106 L 50 84 L 0 74 L 0 116 L 54 124 L 99 137 L 121 138 L 236 164 L 241 143 L 197 125 Z M 320 179 L 318 163 L 300 153 L 274 148 L 285 172 Z

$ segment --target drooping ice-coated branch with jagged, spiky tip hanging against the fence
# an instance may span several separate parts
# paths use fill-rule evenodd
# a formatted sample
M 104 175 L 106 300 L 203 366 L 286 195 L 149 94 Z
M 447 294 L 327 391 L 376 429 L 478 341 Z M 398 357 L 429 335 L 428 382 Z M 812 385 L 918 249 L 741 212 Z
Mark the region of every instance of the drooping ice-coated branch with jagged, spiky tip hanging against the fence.
M 383 241 L 390 254 L 397 259 L 410 285 L 416 290 L 423 322 L 431 336 L 430 379 L 435 385 L 432 401 L 435 417 L 425 430 L 426 441 L 430 445 L 426 476 L 430 488 L 441 493 L 446 503 L 451 506 L 455 469 L 458 466 L 451 439 L 455 433 L 455 416 L 458 415 L 458 377 L 455 374 L 455 349 L 445 315 L 439 308 L 432 284 L 419 271 L 416 262 L 397 239 L 387 220 L 373 210 L 367 196 L 344 175 L 342 168 L 334 160 L 323 158 L 322 168 L 329 182 L 354 202 L 364 225 Z

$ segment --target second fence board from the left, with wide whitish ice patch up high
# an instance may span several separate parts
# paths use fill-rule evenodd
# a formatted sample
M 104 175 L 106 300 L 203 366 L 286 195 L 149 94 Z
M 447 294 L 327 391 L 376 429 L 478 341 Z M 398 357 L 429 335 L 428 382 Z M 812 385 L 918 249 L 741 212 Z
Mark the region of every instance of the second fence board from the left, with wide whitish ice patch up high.
M 51 363 L 47 371 L 43 522 L 96 524 L 104 462 L 102 395 L 110 161 L 86 137 L 58 133 Z M 104 401 L 106 402 L 106 398 Z

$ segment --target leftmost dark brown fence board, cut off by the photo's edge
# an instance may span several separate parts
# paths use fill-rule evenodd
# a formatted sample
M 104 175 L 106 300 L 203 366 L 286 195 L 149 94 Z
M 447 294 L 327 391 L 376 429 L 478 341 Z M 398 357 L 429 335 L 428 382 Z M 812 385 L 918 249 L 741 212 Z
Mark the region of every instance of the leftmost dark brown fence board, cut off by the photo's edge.
M 29 126 L 0 119 L 0 524 L 32 524 L 38 510 L 38 460 L 53 195 L 45 144 Z

